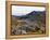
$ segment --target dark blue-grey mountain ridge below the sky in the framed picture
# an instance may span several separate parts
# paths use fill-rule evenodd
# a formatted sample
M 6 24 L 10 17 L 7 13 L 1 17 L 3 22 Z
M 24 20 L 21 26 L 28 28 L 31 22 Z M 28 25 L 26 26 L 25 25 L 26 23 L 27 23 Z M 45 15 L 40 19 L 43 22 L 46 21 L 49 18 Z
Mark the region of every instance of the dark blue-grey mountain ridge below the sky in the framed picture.
M 17 18 L 29 18 L 29 16 L 33 17 L 33 16 L 36 16 L 37 14 L 43 15 L 43 14 L 46 14 L 46 11 L 33 11 L 33 12 L 26 14 L 26 15 L 23 15 L 23 16 L 12 15 L 12 17 L 17 17 Z

